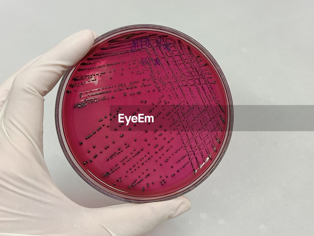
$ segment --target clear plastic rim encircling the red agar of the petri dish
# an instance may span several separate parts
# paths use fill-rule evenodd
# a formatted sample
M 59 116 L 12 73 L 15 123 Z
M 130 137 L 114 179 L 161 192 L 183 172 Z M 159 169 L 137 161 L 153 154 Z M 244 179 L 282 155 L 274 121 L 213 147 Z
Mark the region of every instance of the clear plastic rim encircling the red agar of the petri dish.
M 95 181 L 92 177 L 90 177 L 87 172 L 84 171 L 84 169 L 79 165 L 77 160 L 74 158 L 72 152 L 69 149 L 68 143 L 66 142 L 66 138 L 64 136 L 63 132 L 63 126 L 62 126 L 62 102 L 63 102 L 63 95 L 65 93 L 65 88 L 68 83 L 68 80 L 70 79 L 73 70 L 76 68 L 78 64 L 75 64 L 71 66 L 63 75 L 60 86 L 57 92 L 57 98 L 56 98 L 56 105 L 55 105 L 55 123 L 56 123 L 56 130 L 57 130 L 57 136 L 62 148 L 62 151 L 67 158 L 68 162 L 72 166 L 72 168 L 76 171 L 76 173 L 91 187 L 95 188 L 100 193 L 103 193 L 111 198 L 125 201 L 125 202 L 131 202 L 131 203 L 146 203 L 146 202 L 154 202 L 154 201 L 163 201 L 163 200 L 170 200 L 176 197 L 179 197 L 183 194 L 186 194 L 187 192 L 190 192 L 192 189 L 196 188 L 199 184 L 201 184 L 218 166 L 219 162 L 225 155 L 225 152 L 228 148 L 228 145 L 230 143 L 231 134 L 232 134 L 232 128 L 233 128 L 233 103 L 231 98 L 230 89 L 228 86 L 228 83 L 226 81 L 226 78 L 220 69 L 218 63 L 213 58 L 213 56 L 196 40 L 192 39 L 191 37 L 187 36 L 186 34 L 171 29 L 166 26 L 161 25 L 128 25 L 121 28 L 117 28 L 115 30 L 109 31 L 99 37 L 97 37 L 94 41 L 94 45 L 92 46 L 91 50 L 99 45 L 100 43 L 104 42 L 109 37 L 114 37 L 122 33 L 132 32 L 132 31 L 159 31 L 160 33 L 167 33 L 172 36 L 175 36 L 177 38 L 181 38 L 183 41 L 187 41 L 188 43 L 192 44 L 195 48 L 197 48 L 199 51 L 203 53 L 203 56 L 205 56 L 209 62 L 211 62 L 212 66 L 216 70 L 216 73 L 218 74 L 224 89 L 225 89 L 225 95 L 227 99 L 227 110 L 228 110 L 228 117 L 227 117 L 227 126 L 226 126 L 226 134 L 225 138 L 222 142 L 222 146 L 219 149 L 219 152 L 216 155 L 215 160 L 213 163 L 211 163 L 210 166 L 207 167 L 207 170 L 204 171 L 204 173 L 199 176 L 196 180 L 194 180 L 192 183 L 188 184 L 184 188 L 181 188 L 178 191 L 174 191 L 169 194 L 160 195 L 160 196 L 146 196 L 146 197 L 137 197 L 137 196 L 128 196 L 126 194 L 120 194 L 118 192 L 115 192 L 109 188 L 104 187 L 97 181 Z

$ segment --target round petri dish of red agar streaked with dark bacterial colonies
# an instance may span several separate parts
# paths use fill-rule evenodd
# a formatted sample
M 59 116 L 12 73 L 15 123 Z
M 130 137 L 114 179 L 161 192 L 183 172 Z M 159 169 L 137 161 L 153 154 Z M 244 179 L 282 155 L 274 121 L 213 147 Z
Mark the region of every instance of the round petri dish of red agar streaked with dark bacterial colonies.
M 191 37 L 130 25 L 95 39 L 64 74 L 56 128 L 70 165 L 115 199 L 172 199 L 202 183 L 228 147 L 225 76 Z

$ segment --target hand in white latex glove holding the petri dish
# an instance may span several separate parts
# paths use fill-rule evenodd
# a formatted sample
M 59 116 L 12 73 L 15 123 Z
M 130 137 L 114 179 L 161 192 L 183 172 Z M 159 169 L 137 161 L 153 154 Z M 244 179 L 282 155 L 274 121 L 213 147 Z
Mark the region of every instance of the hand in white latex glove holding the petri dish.
M 0 85 L 0 235 L 140 235 L 191 207 L 181 196 L 87 208 L 52 181 L 43 153 L 43 96 L 95 37 L 89 30 L 73 34 Z

